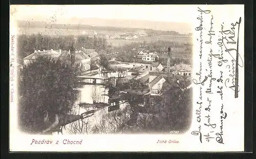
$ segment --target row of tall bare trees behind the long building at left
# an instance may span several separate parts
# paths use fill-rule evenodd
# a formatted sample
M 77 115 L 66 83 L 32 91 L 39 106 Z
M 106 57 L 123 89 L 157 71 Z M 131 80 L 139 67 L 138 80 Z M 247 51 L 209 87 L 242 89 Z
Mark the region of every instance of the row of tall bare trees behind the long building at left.
M 86 49 L 105 49 L 107 42 L 104 38 L 88 37 L 85 35 L 60 35 L 50 36 L 42 34 L 22 34 L 18 36 L 17 52 L 19 58 L 24 58 L 34 52 L 34 50 L 69 50 L 73 44 L 75 49 L 81 47 Z

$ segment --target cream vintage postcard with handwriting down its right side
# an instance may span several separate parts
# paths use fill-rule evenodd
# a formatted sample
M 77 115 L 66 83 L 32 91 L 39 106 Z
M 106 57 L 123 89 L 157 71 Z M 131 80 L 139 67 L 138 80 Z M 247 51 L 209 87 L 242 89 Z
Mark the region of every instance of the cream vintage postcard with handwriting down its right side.
M 244 5 L 11 5 L 10 151 L 244 151 Z

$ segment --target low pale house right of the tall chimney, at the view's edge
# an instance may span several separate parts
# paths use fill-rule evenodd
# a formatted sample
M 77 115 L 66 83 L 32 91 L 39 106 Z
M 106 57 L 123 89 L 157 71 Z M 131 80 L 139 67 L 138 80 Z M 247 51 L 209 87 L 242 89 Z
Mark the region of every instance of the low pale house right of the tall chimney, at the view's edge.
M 192 67 L 189 64 L 177 64 L 170 67 L 170 71 L 175 75 L 182 75 L 182 76 L 191 76 L 192 74 Z

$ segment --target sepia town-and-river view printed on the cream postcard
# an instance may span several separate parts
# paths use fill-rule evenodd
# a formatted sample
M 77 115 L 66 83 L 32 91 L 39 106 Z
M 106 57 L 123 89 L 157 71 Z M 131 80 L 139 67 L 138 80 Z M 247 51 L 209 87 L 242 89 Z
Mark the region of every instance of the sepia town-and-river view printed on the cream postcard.
M 16 21 L 20 131 L 188 130 L 191 24 L 83 17 L 78 7 L 17 7 L 25 8 L 33 14 Z M 48 8 L 58 12 L 48 17 L 37 11 Z

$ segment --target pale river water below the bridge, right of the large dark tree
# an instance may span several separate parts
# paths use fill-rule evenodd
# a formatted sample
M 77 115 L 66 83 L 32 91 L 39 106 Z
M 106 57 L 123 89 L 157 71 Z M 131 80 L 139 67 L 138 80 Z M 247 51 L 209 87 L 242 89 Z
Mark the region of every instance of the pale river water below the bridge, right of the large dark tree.
M 108 103 L 109 97 L 104 96 L 108 94 L 108 89 L 103 85 L 83 85 L 77 90 L 77 100 L 73 107 L 73 114 L 80 115 L 92 109 L 97 109 L 93 103 Z M 90 107 L 80 107 L 79 103 L 92 104 Z M 128 106 L 128 107 L 127 107 Z M 115 120 L 115 125 L 121 125 L 130 119 L 131 111 L 129 110 L 129 103 L 120 104 L 120 109 L 109 112 L 108 106 L 96 111 L 93 116 L 79 120 L 66 125 L 62 129 L 63 134 L 91 134 L 91 133 L 108 133 L 108 130 L 113 129 L 112 120 Z M 118 116 L 118 117 L 117 117 Z M 113 118 L 113 119 L 112 119 Z M 117 121 L 117 122 L 116 122 Z M 103 131 L 103 130 L 104 131 Z M 54 134 L 58 134 L 54 132 Z M 60 134 L 60 133 L 59 133 Z

